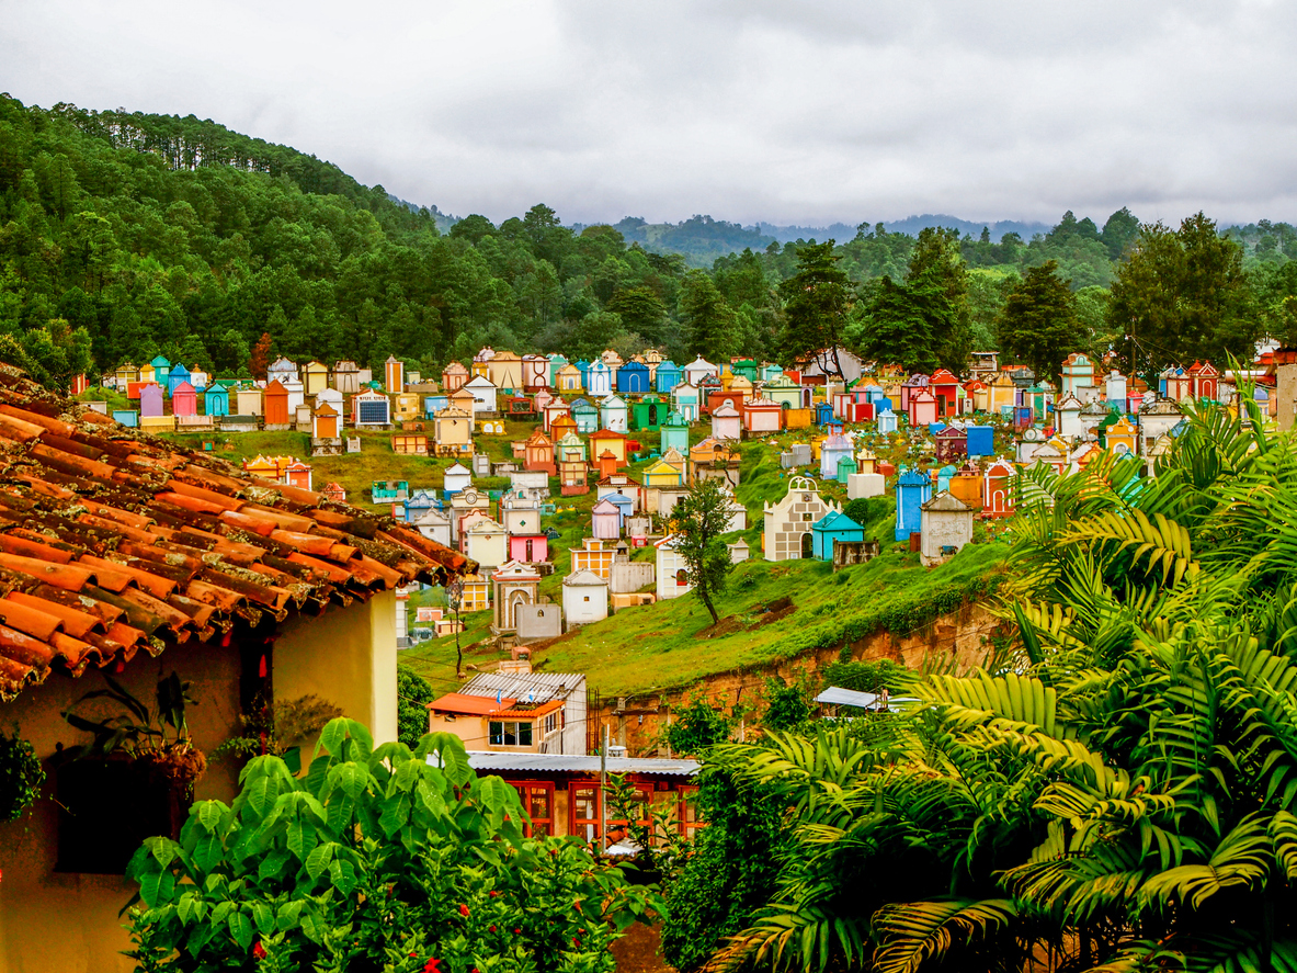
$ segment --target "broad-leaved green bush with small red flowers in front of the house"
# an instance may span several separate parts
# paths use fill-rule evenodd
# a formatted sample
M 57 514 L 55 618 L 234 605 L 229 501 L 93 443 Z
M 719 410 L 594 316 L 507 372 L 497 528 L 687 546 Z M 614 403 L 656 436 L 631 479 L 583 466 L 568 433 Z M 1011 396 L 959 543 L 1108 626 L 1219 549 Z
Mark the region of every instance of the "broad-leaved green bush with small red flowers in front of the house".
M 375 749 L 337 719 L 305 777 L 267 755 L 240 784 L 132 859 L 145 973 L 601 973 L 610 920 L 648 906 L 578 839 L 525 838 L 518 793 L 476 778 L 449 734 Z

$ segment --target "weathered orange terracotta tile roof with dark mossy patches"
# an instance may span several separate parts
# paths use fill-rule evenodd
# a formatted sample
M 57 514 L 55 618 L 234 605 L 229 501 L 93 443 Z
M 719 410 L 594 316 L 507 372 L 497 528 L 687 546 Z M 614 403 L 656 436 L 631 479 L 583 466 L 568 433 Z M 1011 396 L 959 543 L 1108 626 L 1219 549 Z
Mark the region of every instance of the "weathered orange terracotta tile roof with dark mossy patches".
M 52 671 L 477 566 L 390 518 L 244 475 L 0 365 L 0 699 Z

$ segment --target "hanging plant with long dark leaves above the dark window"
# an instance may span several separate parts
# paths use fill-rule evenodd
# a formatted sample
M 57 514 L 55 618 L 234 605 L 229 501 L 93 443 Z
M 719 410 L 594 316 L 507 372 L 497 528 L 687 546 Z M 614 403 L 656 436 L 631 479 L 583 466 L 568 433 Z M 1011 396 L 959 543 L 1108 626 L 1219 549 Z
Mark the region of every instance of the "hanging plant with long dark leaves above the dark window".
M 106 689 L 86 693 L 64 719 L 79 730 L 92 734 L 89 743 L 71 750 L 74 759 L 104 758 L 122 752 L 150 776 L 171 784 L 182 798 L 193 795 L 193 785 L 208 769 L 208 758 L 193 746 L 185 707 L 196 704 L 189 695 L 188 681 L 173 672 L 158 680 L 154 704 L 150 708 L 126 686 L 104 673 Z M 102 720 L 91 720 L 73 710 L 89 699 L 112 699 L 121 703 L 123 712 Z

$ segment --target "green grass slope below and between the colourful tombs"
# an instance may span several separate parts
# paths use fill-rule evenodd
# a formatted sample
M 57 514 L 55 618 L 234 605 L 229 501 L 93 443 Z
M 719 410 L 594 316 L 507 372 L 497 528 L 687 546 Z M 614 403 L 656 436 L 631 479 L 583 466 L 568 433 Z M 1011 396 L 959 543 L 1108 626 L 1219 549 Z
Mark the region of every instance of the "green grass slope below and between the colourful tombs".
M 479 436 L 477 449 L 494 459 L 511 455 L 510 442 L 523 440 L 532 429 L 528 422 L 508 422 L 505 436 Z M 695 428 L 691 441 L 707 435 Z M 359 455 L 320 457 L 314 466 L 316 489 L 329 481 L 340 483 L 348 501 L 367 510 L 388 512 L 388 505 L 368 502 L 374 480 L 409 480 L 411 489 L 441 489 L 442 470 L 449 459 L 402 457 L 392 451 L 390 433 L 361 433 Z M 173 436 L 173 440 L 200 448 L 210 436 Z M 289 454 L 307 457 L 309 437 L 297 432 L 261 432 L 217 436 L 222 458 L 239 463 L 257 454 Z M 656 445 L 656 433 L 643 433 L 645 444 Z M 752 559 L 739 564 L 730 579 L 730 588 L 717 606 L 722 619 L 721 632 L 708 633 L 711 618 L 693 594 L 659 605 L 623 611 L 606 621 L 577 629 L 537 654 L 538 662 L 551 671 L 585 672 L 591 689 L 604 695 L 634 695 L 659 689 L 680 688 L 719 672 L 792 658 L 812 647 L 838 645 L 872 631 L 888 628 L 898 634 L 922 624 L 934 606 L 953 605 L 979 581 L 1003 570 L 1005 545 L 999 541 L 965 549 L 949 563 L 935 568 L 920 567 L 918 558 L 891 542 L 895 503 L 890 496 L 873 501 L 874 516 L 865 525 L 866 536 L 883 542 L 885 554 L 859 567 L 833 573 L 821 562 L 761 560 L 761 509 L 764 502 L 777 502 L 787 489 L 789 472 L 779 468 L 781 448 L 805 436 L 786 433 L 773 441 L 743 444 L 742 479 L 738 499 L 748 511 L 748 528 L 741 535 L 751 547 Z M 231 449 L 226 449 L 226 446 Z M 872 448 L 886 459 L 904 462 L 905 442 L 875 440 Z M 632 472 L 647 466 L 632 467 Z M 502 489 L 507 479 L 477 480 L 486 489 Z M 821 492 L 837 502 L 846 502 L 846 489 L 833 481 L 821 484 Z M 562 581 L 571 568 L 569 549 L 580 547 L 589 535 L 590 507 L 594 492 L 580 497 L 555 497 L 560 512 L 546 520 L 546 527 L 559 531 L 553 541 L 554 573 L 541 583 L 541 594 L 555 602 L 562 599 Z M 987 541 L 984 531 L 977 532 Z M 732 538 L 733 540 L 733 538 Z M 634 551 L 633 557 L 652 559 L 654 549 Z M 794 611 L 769 624 L 760 624 L 764 606 L 782 597 L 792 601 Z M 440 589 L 425 589 L 411 595 L 410 606 L 445 605 Z M 460 636 L 464 663 L 470 667 L 494 668 L 502 658 L 490 649 L 490 612 L 464 616 Z M 403 664 L 422 675 L 437 691 L 450 691 L 459 685 L 455 676 L 455 643 L 453 638 L 433 640 L 401 654 Z M 470 669 L 472 672 L 472 669 Z

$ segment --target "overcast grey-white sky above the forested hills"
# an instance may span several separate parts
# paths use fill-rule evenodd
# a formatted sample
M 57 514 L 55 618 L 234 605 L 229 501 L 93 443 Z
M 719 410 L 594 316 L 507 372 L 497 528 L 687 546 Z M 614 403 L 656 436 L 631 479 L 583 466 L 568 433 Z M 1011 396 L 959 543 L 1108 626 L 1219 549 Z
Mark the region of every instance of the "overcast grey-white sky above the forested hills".
M 0 0 L 0 90 L 495 221 L 1297 221 L 1292 0 Z

